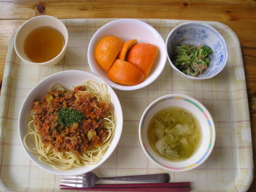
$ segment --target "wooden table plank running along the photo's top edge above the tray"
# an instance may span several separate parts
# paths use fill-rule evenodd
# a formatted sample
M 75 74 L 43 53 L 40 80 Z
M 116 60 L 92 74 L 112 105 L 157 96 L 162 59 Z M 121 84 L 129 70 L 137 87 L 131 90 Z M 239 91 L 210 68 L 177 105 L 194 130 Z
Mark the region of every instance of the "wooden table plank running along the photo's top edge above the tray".
M 1 1 L 0 19 L 28 19 L 35 15 L 58 18 L 173 18 L 185 20 L 255 21 L 255 1 L 237 1 L 239 4 L 204 0 L 153 1 Z M 246 3 L 245 3 L 246 2 Z M 249 3 L 250 2 L 250 3 Z M 210 8 L 211 10 L 206 8 Z M 161 14 L 160 14 L 161 13 Z M 254 14 L 253 14 L 254 13 Z M 107 15 L 107 16 L 106 16 Z

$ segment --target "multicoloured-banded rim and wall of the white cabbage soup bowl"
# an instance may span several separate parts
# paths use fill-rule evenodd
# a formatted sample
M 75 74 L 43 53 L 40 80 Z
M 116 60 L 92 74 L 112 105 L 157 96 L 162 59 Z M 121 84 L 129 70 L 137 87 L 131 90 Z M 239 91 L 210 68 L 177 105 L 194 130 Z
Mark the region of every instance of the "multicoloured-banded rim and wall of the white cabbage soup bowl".
M 168 161 L 168 160 L 165 160 L 163 157 L 160 157 L 159 155 L 157 155 L 153 150 L 152 148 L 149 146 L 148 144 L 148 137 L 147 137 L 147 130 L 148 127 L 145 127 L 146 125 L 145 124 L 148 124 L 148 123 L 145 123 L 145 119 L 147 118 L 148 116 L 148 113 L 150 113 L 150 111 L 156 106 L 156 105 L 160 105 L 161 102 L 165 102 L 167 100 L 171 100 L 171 99 L 177 99 L 177 101 L 179 100 L 183 100 L 184 102 L 188 102 L 190 103 L 191 105 L 195 105 L 195 108 L 198 108 L 198 110 L 201 111 L 202 116 L 204 116 L 205 120 L 207 121 L 207 124 L 209 125 L 208 128 L 208 132 L 210 133 L 209 136 L 207 136 L 207 140 L 209 140 L 209 143 L 207 143 L 207 145 L 204 145 L 203 146 L 203 142 L 201 141 L 198 145 L 198 148 L 203 148 L 202 151 L 203 151 L 203 154 L 200 153 L 200 157 L 198 157 L 198 151 L 199 149 L 197 148 L 196 151 L 194 152 L 194 154 L 192 154 L 191 157 L 189 157 L 188 159 L 186 160 L 181 160 L 181 161 L 178 161 L 178 164 L 183 164 L 183 162 L 187 162 L 189 163 L 188 165 L 186 166 L 177 166 L 177 162 L 174 162 L 174 161 Z M 177 102 L 175 101 L 175 102 Z M 161 107 L 159 110 L 163 109 L 163 108 L 166 108 L 166 107 L 172 107 L 172 106 L 175 106 L 175 107 L 180 107 L 179 106 L 180 104 L 175 104 L 175 105 L 169 105 L 169 106 L 166 106 L 166 104 Z M 188 110 L 188 109 L 187 109 Z M 190 110 L 188 110 L 190 111 Z M 157 111 L 156 111 L 157 112 Z M 156 113 L 154 112 L 154 114 Z M 154 116 L 154 114 L 152 115 L 149 115 L 150 116 L 150 119 L 152 118 L 152 116 Z M 198 117 L 197 114 L 195 113 L 192 113 L 196 118 Z M 148 117 L 149 119 L 149 117 Z M 197 118 L 198 119 L 198 118 Z M 147 120 L 147 122 L 149 122 Z M 198 119 L 198 122 L 199 122 L 199 119 Z M 200 122 L 199 122 L 200 123 Z M 201 123 L 200 123 L 201 124 Z M 144 126 L 144 127 L 143 127 Z M 144 129 L 144 131 L 143 131 Z M 205 137 L 204 136 L 204 131 L 205 131 L 205 128 L 203 130 L 203 128 L 201 128 L 201 134 L 202 134 L 202 137 Z M 144 151 L 144 153 L 146 154 L 146 156 L 148 157 L 148 159 L 151 160 L 152 163 L 154 163 L 155 165 L 159 166 L 160 168 L 162 169 L 165 169 L 165 170 L 168 170 L 168 171 L 172 171 L 172 172 L 184 172 L 184 171 L 189 171 L 191 169 L 195 169 L 196 167 L 200 166 L 202 163 L 204 163 L 205 160 L 207 160 L 207 158 L 209 157 L 209 155 L 211 154 L 212 152 L 212 149 L 214 147 L 214 144 L 215 144 L 215 125 L 214 125 L 214 122 L 213 122 L 213 119 L 212 119 L 212 116 L 210 115 L 209 111 L 207 110 L 207 108 L 204 107 L 204 105 L 202 105 L 200 102 L 198 102 L 196 99 L 190 97 L 190 96 L 186 96 L 186 95 L 182 95 L 182 94 L 169 94 L 169 95 L 165 95 L 165 96 L 161 96 L 160 98 L 154 100 L 153 102 L 151 102 L 150 105 L 148 105 L 148 107 L 145 109 L 145 111 L 143 112 L 143 115 L 141 116 L 141 119 L 140 119 L 140 124 L 139 124 L 139 140 L 140 140 L 140 145 Z M 193 158 L 193 161 L 192 161 L 192 157 L 193 156 L 196 156 L 196 158 Z M 195 159 L 197 159 L 196 161 L 194 161 Z

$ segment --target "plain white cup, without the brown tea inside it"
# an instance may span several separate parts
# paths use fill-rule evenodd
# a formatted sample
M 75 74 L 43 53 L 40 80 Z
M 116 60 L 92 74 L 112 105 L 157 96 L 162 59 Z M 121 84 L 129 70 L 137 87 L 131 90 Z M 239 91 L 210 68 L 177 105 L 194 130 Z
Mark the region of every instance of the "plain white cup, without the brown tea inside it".
M 29 33 L 42 26 L 51 26 L 55 29 L 58 29 L 64 37 L 65 44 L 61 50 L 61 52 L 53 59 L 42 62 L 42 63 L 36 63 L 31 61 L 25 54 L 24 52 L 24 41 L 29 35 Z M 14 39 L 14 47 L 17 55 L 19 56 L 20 59 L 25 61 L 26 63 L 29 64 L 35 64 L 35 65 L 44 65 L 44 66 L 50 66 L 57 64 L 63 56 L 65 55 L 66 48 L 67 48 L 67 41 L 68 41 L 68 33 L 67 33 L 67 28 L 66 26 L 58 20 L 56 17 L 52 17 L 49 15 L 41 15 L 41 16 L 36 16 L 32 17 L 31 19 L 27 20 L 25 23 L 23 23 L 19 29 L 16 32 L 15 39 Z

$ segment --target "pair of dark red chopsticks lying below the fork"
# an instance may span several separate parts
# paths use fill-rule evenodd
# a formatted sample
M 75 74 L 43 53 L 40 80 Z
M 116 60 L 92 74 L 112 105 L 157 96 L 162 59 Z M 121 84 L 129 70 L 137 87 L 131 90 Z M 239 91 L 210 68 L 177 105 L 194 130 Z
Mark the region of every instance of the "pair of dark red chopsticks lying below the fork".
M 65 186 L 65 185 L 60 185 Z M 126 183 L 126 184 L 97 184 L 93 187 L 61 187 L 67 190 L 79 191 L 169 191 L 169 192 L 189 192 L 189 182 L 177 183 Z

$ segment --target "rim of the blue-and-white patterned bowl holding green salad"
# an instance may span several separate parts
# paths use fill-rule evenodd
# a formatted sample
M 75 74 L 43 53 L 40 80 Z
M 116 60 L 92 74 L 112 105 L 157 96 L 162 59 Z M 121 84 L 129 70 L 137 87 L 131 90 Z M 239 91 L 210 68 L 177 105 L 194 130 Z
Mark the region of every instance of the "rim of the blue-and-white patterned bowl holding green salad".
M 193 76 L 189 76 L 189 75 L 186 75 L 185 73 L 182 73 L 180 70 L 177 69 L 177 67 L 175 67 L 175 65 L 172 63 L 170 57 L 169 57 L 169 53 L 168 53 L 168 42 L 169 41 L 172 41 L 170 40 L 170 37 L 171 35 L 177 31 L 177 29 L 183 27 L 183 26 L 186 26 L 188 24 L 197 24 L 197 25 L 201 25 L 201 26 L 204 26 L 204 27 L 207 27 L 209 29 L 211 29 L 213 32 L 215 32 L 215 34 L 218 35 L 218 38 L 221 39 L 223 41 L 223 44 L 224 44 L 224 52 L 225 52 L 225 60 L 221 66 L 221 68 L 214 74 L 210 75 L 210 76 L 207 76 L 207 77 L 193 77 Z M 185 78 L 188 78 L 188 79 L 194 79 L 194 80 L 203 80 L 203 79 L 211 79 L 213 78 L 214 76 L 218 75 L 219 73 L 221 73 L 221 71 L 225 68 L 226 64 L 227 64 L 227 59 L 228 59 L 228 50 L 227 50 L 227 44 L 226 44 L 226 41 L 225 39 L 223 38 L 223 36 L 212 26 L 208 25 L 207 23 L 203 23 L 203 22 L 198 22 L 198 21 L 188 21 L 188 22 L 184 22 L 184 23 L 180 23 L 179 25 L 175 26 L 175 28 L 173 28 L 167 38 L 166 38 L 166 44 L 165 44 L 165 47 L 166 47 L 166 56 L 167 56 L 167 59 L 169 61 L 169 64 L 171 65 L 171 67 L 177 71 L 177 73 L 182 76 L 182 77 L 185 77 Z M 214 53 L 213 53 L 214 54 Z

